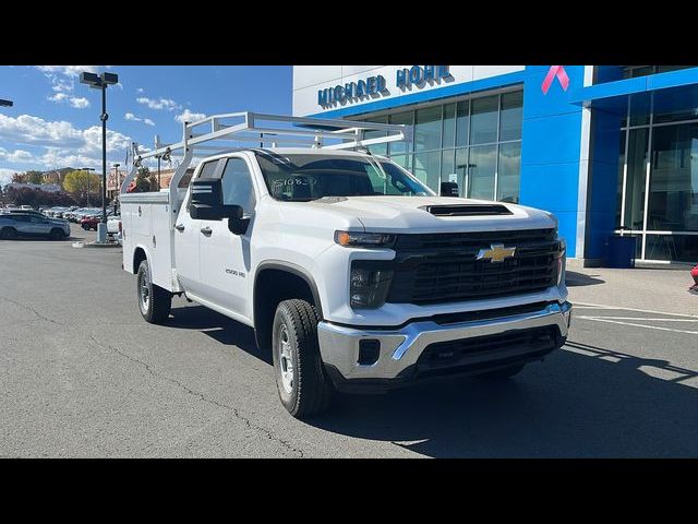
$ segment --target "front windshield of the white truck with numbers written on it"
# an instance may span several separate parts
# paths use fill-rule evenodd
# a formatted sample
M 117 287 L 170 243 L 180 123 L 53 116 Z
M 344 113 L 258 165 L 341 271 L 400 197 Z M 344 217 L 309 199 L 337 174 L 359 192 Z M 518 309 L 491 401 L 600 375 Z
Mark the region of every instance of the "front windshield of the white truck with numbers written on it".
M 308 202 L 324 196 L 434 194 L 387 160 L 268 152 L 256 152 L 256 155 L 269 194 L 276 200 Z

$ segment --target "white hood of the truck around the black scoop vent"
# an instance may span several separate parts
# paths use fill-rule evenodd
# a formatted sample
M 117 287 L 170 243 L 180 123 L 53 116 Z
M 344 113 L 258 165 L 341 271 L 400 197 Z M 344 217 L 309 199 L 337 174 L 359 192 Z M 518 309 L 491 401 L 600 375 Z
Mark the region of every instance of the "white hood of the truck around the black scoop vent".
M 325 198 L 308 203 L 332 214 L 359 219 L 366 231 L 444 233 L 507 229 L 539 229 L 557 226 L 550 213 L 522 205 L 450 196 L 347 196 Z M 500 204 L 510 214 L 436 216 L 430 205 Z

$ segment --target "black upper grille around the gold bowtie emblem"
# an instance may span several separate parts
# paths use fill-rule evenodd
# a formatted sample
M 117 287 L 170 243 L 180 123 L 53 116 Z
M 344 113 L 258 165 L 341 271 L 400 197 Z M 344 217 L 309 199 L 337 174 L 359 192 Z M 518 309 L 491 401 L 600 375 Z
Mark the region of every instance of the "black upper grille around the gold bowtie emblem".
M 555 229 L 398 235 L 387 301 L 442 303 L 534 293 L 557 282 Z M 503 262 L 477 260 L 481 249 L 516 247 Z

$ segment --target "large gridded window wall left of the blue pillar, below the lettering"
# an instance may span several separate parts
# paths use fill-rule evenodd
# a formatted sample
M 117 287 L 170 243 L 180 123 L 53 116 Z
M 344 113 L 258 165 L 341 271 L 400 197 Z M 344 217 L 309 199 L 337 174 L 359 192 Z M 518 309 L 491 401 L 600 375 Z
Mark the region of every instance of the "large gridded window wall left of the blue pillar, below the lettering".
M 366 120 L 413 126 L 413 140 L 388 144 L 387 155 L 432 190 L 438 192 L 441 182 L 455 176 L 461 196 L 518 203 L 522 104 L 519 90 L 402 108 Z M 378 153 L 376 146 L 371 151 Z

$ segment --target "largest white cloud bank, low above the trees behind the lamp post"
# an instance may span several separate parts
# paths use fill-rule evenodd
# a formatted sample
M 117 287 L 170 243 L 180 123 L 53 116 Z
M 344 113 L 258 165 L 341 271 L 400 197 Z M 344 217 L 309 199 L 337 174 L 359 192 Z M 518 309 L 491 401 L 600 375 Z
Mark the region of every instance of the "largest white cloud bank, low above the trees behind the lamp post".
M 33 154 L 25 150 L 8 152 L 2 150 L 0 158 L 16 164 L 37 164 L 45 169 L 68 166 L 95 166 L 101 162 L 101 126 L 75 129 L 71 122 L 48 121 L 31 115 L 16 118 L 0 114 L 0 140 L 43 146 Z M 131 139 L 118 131 L 107 130 L 107 153 L 109 162 L 123 162 L 124 151 Z

